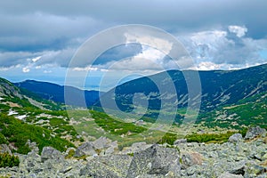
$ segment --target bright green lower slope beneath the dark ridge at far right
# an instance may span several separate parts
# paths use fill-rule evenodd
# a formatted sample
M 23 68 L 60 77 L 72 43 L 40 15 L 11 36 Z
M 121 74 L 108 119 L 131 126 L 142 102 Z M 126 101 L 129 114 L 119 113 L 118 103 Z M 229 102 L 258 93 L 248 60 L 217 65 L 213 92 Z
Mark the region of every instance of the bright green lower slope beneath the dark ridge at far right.
M 241 128 L 247 125 L 267 127 L 267 92 L 224 105 L 202 114 L 198 123 L 208 127 Z

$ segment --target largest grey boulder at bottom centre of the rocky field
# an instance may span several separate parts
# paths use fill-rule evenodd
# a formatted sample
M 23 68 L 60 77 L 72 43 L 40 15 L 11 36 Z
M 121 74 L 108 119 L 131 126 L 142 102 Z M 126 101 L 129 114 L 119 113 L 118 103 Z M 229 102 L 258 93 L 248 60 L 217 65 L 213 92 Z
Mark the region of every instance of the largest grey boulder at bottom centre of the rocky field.
M 134 153 L 134 159 L 128 171 L 129 178 L 142 174 L 180 176 L 179 153 L 176 149 L 152 145 L 147 150 Z

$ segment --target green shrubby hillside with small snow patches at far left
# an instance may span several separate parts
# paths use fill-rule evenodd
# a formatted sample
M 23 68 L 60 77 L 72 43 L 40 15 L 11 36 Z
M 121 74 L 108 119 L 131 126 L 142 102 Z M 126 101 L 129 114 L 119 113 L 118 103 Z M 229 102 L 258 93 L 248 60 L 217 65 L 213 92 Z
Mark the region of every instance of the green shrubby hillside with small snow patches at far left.
M 31 142 L 39 151 L 45 146 L 67 150 L 75 145 L 77 132 L 60 106 L 21 90 L 0 78 L 0 144 L 12 152 L 27 154 Z

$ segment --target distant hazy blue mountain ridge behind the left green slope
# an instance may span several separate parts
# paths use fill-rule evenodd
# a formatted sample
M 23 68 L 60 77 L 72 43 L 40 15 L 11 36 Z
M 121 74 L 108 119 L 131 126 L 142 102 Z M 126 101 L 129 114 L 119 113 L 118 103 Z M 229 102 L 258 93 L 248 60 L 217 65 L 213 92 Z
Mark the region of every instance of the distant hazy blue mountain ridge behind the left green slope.
M 101 94 L 97 91 L 80 90 L 73 86 L 56 85 L 49 82 L 40 82 L 35 80 L 26 80 L 23 82 L 14 83 L 14 85 L 27 89 L 32 93 L 36 93 L 36 95 L 45 100 L 59 103 L 65 102 L 64 90 L 66 90 L 68 91 L 69 95 L 72 96 L 69 104 L 74 106 L 84 106 L 84 96 L 86 105 L 91 106 L 99 99 L 99 95 Z

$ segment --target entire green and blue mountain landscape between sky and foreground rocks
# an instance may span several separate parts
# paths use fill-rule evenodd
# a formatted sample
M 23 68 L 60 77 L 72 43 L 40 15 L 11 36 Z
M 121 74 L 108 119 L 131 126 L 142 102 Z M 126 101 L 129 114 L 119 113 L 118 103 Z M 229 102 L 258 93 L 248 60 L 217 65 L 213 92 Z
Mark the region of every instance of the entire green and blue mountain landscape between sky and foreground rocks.
M 22 154 L 28 154 L 31 150 L 30 142 L 36 142 L 39 150 L 52 146 L 64 151 L 69 147 L 77 147 L 86 139 L 97 139 L 106 135 L 112 141 L 118 141 L 120 148 L 124 148 L 134 142 L 160 141 L 171 144 L 177 138 L 182 138 L 180 129 L 182 134 L 190 135 L 194 132 L 192 135 L 197 140 L 205 137 L 209 138 L 208 141 L 218 141 L 223 135 L 221 132 L 242 133 L 251 125 L 267 128 L 266 71 L 267 64 L 228 71 L 170 70 L 167 71 L 169 78 L 158 73 L 134 79 L 117 85 L 108 93 L 101 93 L 100 101 L 97 101 L 97 97 L 88 97 L 87 100 L 93 103 L 91 109 L 75 108 L 68 112 L 62 107 L 64 86 L 31 80 L 14 85 L 0 78 L 0 145 L 6 144 L 12 152 Z M 188 81 L 183 75 L 195 72 L 198 72 L 201 81 L 200 111 L 196 122 L 180 125 L 188 114 L 186 110 L 189 109 L 190 101 Z M 172 83 L 176 93 L 169 90 Z M 170 93 L 160 93 L 159 89 L 163 87 Z M 70 88 L 78 91 L 77 96 L 85 93 Z M 134 98 L 136 94 L 141 96 L 140 101 Z M 178 100 L 175 99 L 175 94 L 178 95 Z M 191 99 L 194 100 L 196 99 Z M 131 116 L 140 115 L 142 121 L 127 120 L 127 117 L 119 114 L 115 116 L 94 110 L 101 110 L 101 101 L 108 103 L 105 106 L 110 110 L 114 108 L 109 102 L 115 101 L 119 109 Z M 136 111 L 136 105 L 147 107 L 144 109 L 144 116 L 137 112 L 138 109 Z M 153 122 L 160 112 L 167 116 L 171 105 L 175 106 L 177 114 L 175 113 L 174 125 L 170 130 L 165 130 L 164 123 Z M 151 125 L 156 127 L 150 129 Z M 202 131 L 205 134 L 199 136 Z M 213 134 L 214 132 L 219 132 L 221 136 L 216 136 L 219 134 Z

